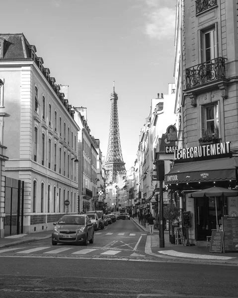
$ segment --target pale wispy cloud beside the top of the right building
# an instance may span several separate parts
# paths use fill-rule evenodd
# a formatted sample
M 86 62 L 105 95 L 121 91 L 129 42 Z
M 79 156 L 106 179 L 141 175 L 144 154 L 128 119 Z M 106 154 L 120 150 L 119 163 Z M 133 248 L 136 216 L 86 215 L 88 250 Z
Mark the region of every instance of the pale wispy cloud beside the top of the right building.
M 175 9 L 158 7 L 158 1 L 147 0 L 148 9 L 145 12 L 147 18 L 145 32 L 151 38 L 168 40 L 174 38 Z

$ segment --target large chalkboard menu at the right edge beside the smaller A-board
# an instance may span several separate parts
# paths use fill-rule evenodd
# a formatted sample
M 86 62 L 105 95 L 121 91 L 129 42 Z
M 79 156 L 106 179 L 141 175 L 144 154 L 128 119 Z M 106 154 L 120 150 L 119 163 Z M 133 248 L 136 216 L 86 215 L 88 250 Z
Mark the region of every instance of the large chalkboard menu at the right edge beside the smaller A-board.
M 238 251 L 238 217 L 223 217 L 225 251 Z

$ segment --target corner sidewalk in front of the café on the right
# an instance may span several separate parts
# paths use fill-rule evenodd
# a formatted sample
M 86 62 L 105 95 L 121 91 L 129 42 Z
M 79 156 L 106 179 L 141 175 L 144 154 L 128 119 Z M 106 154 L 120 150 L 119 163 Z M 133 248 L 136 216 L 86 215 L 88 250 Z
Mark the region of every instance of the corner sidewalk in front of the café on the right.
M 149 225 L 146 227 L 139 224 L 138 218 L 131 219 L 144 231 L 149 233 Z M 154 229 L 154 234 L 147 237 L 146 253 L 152 256 L 167 259 L 190 260 L 201 263 L 219 263 L 238 265 L 238 252 L 211 253 L 210 246 L 184 246 L 183 244 L 171 244 L 168 231 L 164 231 L 164 247 L 159 247 L 159 230 Z

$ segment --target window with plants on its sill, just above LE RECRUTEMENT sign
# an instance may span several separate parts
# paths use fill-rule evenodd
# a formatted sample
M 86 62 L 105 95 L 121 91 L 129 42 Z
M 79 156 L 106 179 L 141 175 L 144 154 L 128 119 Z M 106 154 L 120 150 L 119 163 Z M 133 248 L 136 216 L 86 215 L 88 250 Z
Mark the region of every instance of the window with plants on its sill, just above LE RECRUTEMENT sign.
M 202 135 L 216 135 L 219 138 L 219 106 L 218 103 L 201 106 Z

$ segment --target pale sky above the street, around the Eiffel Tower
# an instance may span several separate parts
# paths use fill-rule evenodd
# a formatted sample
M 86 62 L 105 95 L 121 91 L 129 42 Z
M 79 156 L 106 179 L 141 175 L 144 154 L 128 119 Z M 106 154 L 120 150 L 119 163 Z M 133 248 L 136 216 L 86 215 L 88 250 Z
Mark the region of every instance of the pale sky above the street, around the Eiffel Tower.
M 123 160 L 134 165 L 151 99 L 174 82 L 175 0 L 7 0 L 0 33 L 23 33 L 69 103 L 87 108 L 106 157 L 110 94 L 118 94 Z

